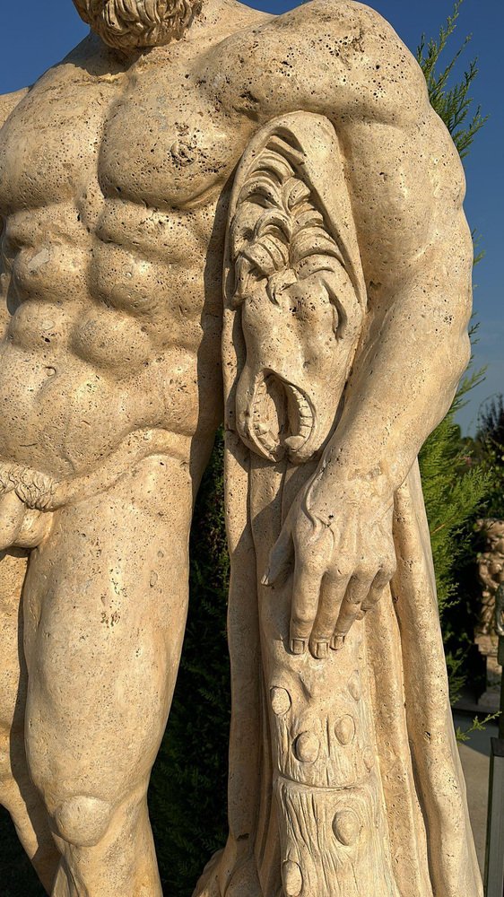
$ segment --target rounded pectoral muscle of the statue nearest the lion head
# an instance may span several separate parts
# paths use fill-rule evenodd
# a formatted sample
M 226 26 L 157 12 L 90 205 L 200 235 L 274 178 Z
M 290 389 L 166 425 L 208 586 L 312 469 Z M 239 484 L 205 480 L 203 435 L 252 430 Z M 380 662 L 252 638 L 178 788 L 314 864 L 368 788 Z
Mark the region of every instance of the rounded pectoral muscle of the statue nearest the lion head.
M 229 121 L 194 83 L 143 74 L 109 113 L 100 187 L 151 208 L 190 208 L 222 187 L 239 155 Z

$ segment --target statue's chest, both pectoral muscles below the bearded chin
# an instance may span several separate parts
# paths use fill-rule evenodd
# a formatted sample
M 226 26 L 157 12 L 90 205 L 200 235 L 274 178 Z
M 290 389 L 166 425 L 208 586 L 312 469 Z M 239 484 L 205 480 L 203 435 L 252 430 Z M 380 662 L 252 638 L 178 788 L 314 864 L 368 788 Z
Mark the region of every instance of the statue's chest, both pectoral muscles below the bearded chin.
M 184 71 L 108 81 L 56 67 L 0 128 L 0 214 L 98 212 L 103 198 L 190 208 L 219 192 L 244 140 Z

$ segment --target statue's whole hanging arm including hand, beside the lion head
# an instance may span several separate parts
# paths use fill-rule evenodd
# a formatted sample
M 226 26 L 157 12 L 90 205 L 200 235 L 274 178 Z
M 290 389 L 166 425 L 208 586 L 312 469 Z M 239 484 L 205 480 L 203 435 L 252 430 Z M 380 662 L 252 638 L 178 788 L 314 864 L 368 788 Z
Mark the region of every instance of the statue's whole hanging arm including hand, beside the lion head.
M 326 84 L 320 105 L 343 145 L 368 314 L 343 414 L 265 579 L 273 584 L 290 570 L 294 555 L 291 646 L 309 643 L 317 657 L 343 645 L 394 573 L 394 493 L 448 411 L 469 359 L 473 264 L 464 174 L 418 66 L 394 32 L 387 39 L 391 30 L 375 13 L 335 4 L 343 6 L 365 10 L 369 30 L 343 100 L 339 85 L 331 94 Z M 378 30 L 381 55 L 373 57 Z M 372 72 L 384 60 L 377 87 Z M 404 75 L 395 102 L 394 71 Z

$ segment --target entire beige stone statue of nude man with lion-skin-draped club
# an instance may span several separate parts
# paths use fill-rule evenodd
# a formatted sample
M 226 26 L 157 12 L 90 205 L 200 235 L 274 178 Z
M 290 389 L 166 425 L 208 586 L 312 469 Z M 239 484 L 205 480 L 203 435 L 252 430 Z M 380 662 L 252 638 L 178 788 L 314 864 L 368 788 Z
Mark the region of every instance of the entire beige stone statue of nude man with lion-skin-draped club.
M 421 71 L 352 0 L 74 2 L 89 38 L 0 100 L 4 806 L 55 897 L 161 894 L 224 407 L 230 836 L 196 894 L 481 895 L 416 462 L 473 249 Z

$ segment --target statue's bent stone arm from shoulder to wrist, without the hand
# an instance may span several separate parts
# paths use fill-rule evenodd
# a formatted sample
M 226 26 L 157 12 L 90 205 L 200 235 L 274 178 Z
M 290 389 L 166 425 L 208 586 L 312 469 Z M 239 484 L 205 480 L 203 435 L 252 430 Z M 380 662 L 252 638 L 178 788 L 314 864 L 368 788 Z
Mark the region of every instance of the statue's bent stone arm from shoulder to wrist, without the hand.
M 374 10 L 312 0 L 260 31 L 257 65 L 278 57 L 279 42 L 289 61 L 270 63 L 268 91 L 257 91 L 265 109 L 316 112 L 335 127 L 369 294 L 331 457 L 347 473 L 383 466 L 397 488 L 468 360 L 464 172 L 420 66 Z

